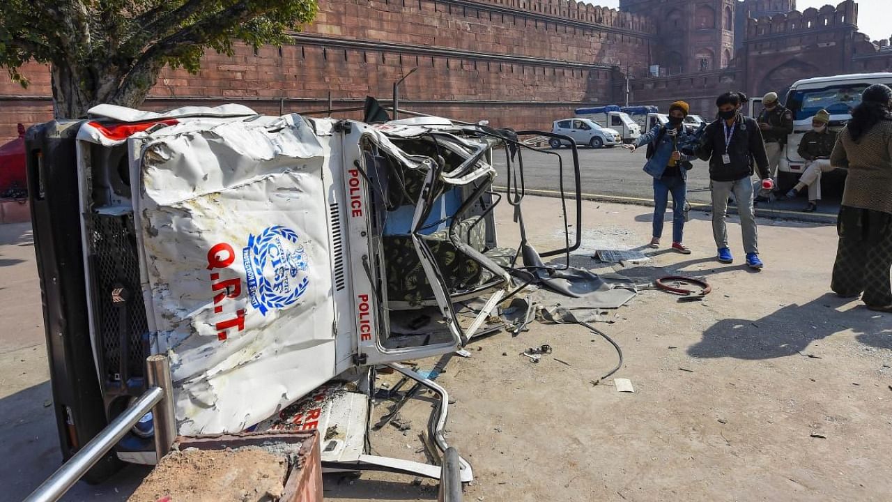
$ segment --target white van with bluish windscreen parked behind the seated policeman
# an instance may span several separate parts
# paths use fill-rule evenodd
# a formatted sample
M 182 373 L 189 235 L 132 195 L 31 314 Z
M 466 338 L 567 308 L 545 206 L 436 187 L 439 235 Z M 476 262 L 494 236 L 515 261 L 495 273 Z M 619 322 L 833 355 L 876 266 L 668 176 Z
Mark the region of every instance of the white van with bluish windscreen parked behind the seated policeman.
M 818 110 L 830 113 L 830 130 L 841 130 L 861 103 L 861 93 L 872 84 L 892 86 L 892 73 L 857 73 L 798 80 L 789 88 L 786 106 L 793 112 L 793 133 L 787 139 L 786 155 L 780 157 L 778 185 L 790 188 L 805 171 L 805 159 L 797 149 L 803 135 L 812 130 Z M 756 113 L 755 111 L 753 113 Z

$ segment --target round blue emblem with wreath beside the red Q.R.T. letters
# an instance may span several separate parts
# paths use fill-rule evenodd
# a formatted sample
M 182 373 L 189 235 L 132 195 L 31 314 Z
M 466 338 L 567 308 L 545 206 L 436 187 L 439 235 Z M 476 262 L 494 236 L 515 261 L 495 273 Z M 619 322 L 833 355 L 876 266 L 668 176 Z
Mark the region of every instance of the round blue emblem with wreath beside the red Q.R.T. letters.
M 243 252 L 244 271 L 248 297 L 260 314 L 291 305 L 307 292 L 309 264 L 297 241 L 294 230 L 280 225 L 248 236 Z

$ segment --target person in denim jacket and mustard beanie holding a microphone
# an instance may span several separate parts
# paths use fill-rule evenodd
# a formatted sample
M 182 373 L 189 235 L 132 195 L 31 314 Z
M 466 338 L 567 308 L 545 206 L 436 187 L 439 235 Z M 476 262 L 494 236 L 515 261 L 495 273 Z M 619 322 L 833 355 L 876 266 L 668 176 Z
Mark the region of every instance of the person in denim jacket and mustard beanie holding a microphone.
M 648 162 L 644 164 L 644 172 L 654 177 L 654 235 L 650 239 L 650 247 L 660 246 L 663 235 L 663 218 L 669 194 L 673 200 L 672 248 L 684 255 L 690 255 L 690 249 L 681 244 L 684 236 L 684 208 L 688 197 L 688 170 L 690 161 L 697 158 L 684 155 L 680 144 L 690 142 L 691 132 L 684 127 L 684 118 L 690 107 L 683 101 L 676 101 L 669 106 L 669 123 L 657 125 L 647 134 L 642 134 L 631 145 L 624 145 L 632 152 L 639 146 L 649 145 Z

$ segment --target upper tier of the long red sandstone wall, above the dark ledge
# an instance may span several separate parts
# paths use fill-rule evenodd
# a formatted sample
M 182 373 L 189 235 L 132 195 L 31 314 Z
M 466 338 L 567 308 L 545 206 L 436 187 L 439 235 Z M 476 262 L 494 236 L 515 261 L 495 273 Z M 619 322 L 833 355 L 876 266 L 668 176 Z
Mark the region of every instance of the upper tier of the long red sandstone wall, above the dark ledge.
M 552 15 L 502 13 L 488 9 L 489 4 L 484 2 L 465 4 L 472 6 L 432 0 L 322 2 L 316 21 L 306 33 L 577 63 L 648 60 L 648 36 L 643 32 L 613 30 L 604 24 L 568 23 L 565 21 L 570 20 Z M 606 12 L 618 14 L 608 9 Z M 637 15 L 625 16 L 640 19 Z M 615 19 L 607 21 L 624 24 Z M 639 23 L 629 20 L 629 24 Z

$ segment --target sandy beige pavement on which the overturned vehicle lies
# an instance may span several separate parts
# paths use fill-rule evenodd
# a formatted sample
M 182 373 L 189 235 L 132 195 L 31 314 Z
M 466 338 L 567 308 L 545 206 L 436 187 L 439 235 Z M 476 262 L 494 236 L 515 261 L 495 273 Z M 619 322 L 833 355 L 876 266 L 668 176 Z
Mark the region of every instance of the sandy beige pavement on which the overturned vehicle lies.
M 534 245 L 562 242 L 553 199 L 527 197 L 524 213 Z M 592 260 L 593 252 L 642 248 L 650 217 L 641 206 L 584 203 L 574 264 L 612 271 Z M 518 233 L 510 207 L 500 205 L 497 218 L 500 242 L 513 246 Z M 516 338 L 500 333 L 475 341 L 480 351 L 472 358 L 454 359 L 438 382 L 456 400 L 450 443 L 475 466 L 467 499 L 887 498 L 892 314 L 829 294 L 834 228 L 764 219 L 760 225 L 763 272 L 741 264 L 735 223 L 737 262 L 715 263 L 702 213 L 686 230 L 692 255 L 658 250 L 648 266 L 619 268 L 642 280 L 702 277 L 714 289 L 694 304 L 644 290 L 612 323 L 598 325 L 623 347 L 625 364 L 615 376 L 631 379 L 635 394 L 620 394 L 609 381 L 591 386 L 615 364 L 615 352 L 577 326 L 535 323 Z M 0 486 L 8 500 L 27 495 L 61 458 L 29 231 L 27 224 L 0 226 L 0 299 L 9 305 L 0 311 L 0 451 L 8 459 L 0 464 Z M 542 343 L 555 353 L 541 364 L 516 356 Z M 422 430 L 429 410 L 428 402 L 413 401 L 401 413 Z M 385 412 L 376 407 L 377 415 Z M 394 428 L 375 436 L 373 447 L 381 455 L 423 459 L 413 453 L 414 436 Z M 78 483 L 65 500 L 124 500 L 143 475 L 145 469 L 130 467 L 99 487 Z M 383 473 L 351 482 L 326 478 L 325 495 L 435 497 L 431 481 L 411 481 Z

